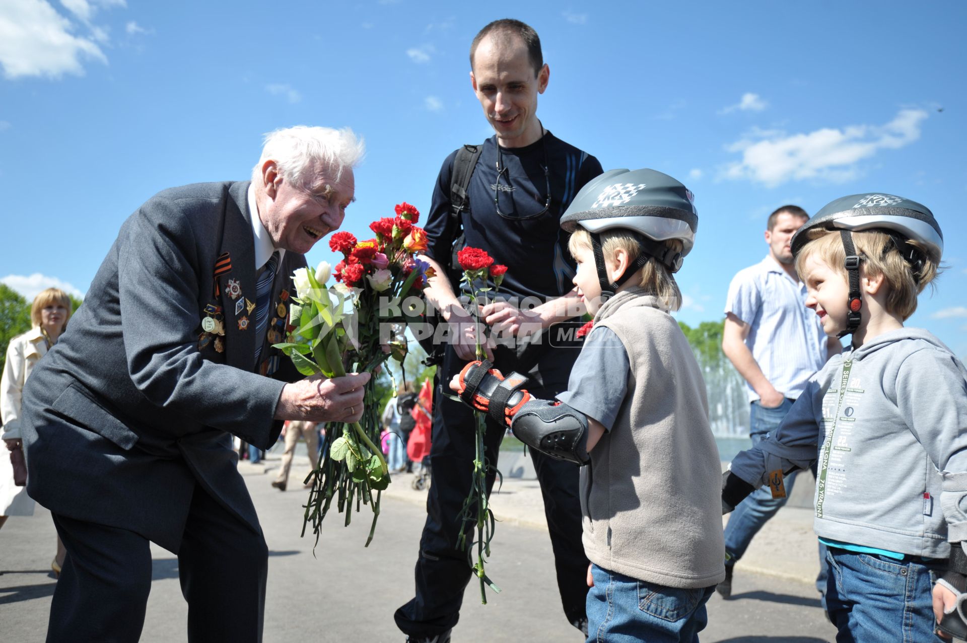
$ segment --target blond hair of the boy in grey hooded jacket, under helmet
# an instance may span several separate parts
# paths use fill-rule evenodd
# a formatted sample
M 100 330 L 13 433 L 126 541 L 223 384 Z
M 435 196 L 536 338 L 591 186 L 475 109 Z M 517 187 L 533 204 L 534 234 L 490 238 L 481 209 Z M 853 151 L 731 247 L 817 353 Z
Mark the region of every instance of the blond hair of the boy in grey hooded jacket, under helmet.
M 809 241 L 796 256 L 796 272 L 806 278 L 806 258 L 816 254 L 828 266 L 835 268 L 843 278 L 846 273 L 846 250 L 838 230 L 816 228 L 806 232 Z M 926 284 L 940 274 L 940 267 L 929 258 L 926 247 L 912 239 L 908 244 L 923 252 L 923 268 L 914 274 L 913 267 L 900 255 L 891 236 L 879 230 L 853 232 L 853 247 L 860 257 L 860 266 L 866 277 L 883 276 L 888 286 L 887 312 L 899 315 L 904 321 L 917 309 L 917 295 Z

